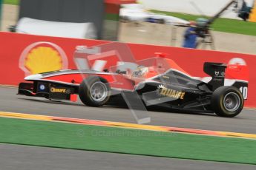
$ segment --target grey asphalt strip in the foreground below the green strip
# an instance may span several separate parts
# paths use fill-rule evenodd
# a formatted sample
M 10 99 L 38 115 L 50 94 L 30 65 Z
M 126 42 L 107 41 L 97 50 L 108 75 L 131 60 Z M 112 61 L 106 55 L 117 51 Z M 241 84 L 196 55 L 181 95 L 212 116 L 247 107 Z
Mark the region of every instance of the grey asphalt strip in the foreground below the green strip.
M 1 170 L 255 170 L 255 166 L 0 144 Z

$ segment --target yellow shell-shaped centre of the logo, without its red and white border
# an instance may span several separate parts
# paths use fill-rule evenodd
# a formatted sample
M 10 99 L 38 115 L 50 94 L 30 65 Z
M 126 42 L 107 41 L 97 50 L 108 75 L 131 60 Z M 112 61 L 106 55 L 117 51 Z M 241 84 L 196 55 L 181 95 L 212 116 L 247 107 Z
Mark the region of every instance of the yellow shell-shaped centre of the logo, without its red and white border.
M 36 47 L 31 50 L 24 62 L 32 74 L 62 69 L 62 57 L 51 47 Z

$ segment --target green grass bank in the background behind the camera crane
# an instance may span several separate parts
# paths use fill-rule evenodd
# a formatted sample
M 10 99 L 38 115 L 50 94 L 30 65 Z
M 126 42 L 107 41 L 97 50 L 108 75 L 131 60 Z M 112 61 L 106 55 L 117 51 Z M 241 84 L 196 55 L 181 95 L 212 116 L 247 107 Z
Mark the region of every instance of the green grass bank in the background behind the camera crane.
M 188 21 L 196 20 L 197 18 L 202 18 L 202 16 L 195 16 L 191 14 L 185 13 L 171 13 L 165 12 L 160 10 L 151 10 L 153 13 L 163 13 L 168 16 L 174 16 L 178 18 L 183 18 Z M 237 33 L 237 34 L 244 34 L 244 35 L 256 35 L 256 23 L 249 22 L 249 21 L 240 21 L 236 19 L 229 19 L 229 18 L 217 18 L 212 24 L 211 29 L 220 32 L 226 33 Z

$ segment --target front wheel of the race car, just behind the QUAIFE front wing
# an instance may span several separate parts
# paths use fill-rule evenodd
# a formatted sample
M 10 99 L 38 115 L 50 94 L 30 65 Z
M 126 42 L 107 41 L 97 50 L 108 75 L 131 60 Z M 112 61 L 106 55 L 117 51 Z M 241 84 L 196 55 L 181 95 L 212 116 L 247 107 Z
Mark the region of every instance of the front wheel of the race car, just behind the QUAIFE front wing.
M 110 87 L 104 78 L 91 76 L 79 86 L 79 98 L 87 106 L 99 107 L 108 102 Z

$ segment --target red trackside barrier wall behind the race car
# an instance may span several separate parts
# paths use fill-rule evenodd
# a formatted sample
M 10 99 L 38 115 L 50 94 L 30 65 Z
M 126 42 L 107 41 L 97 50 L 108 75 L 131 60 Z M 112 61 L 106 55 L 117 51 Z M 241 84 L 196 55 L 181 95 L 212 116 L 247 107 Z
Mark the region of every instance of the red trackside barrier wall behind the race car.
M 39 41 L 47 41 L 56 44 L 68 58 L 68 68 L 76 69 L 73 62 L 73 52 L 78 45 L 88 47 L 105 44 L 108 41 L 96 41 L 73 38 L 55 38 L 38 35 L 24 35 L 18 33 L 0 33 L 0 84 L 17 85 L 23 81 L 24 71 L 19 68 L 19 59 L 24 49 L 30 44 Z M 128 44 L 131 52 L 137 60 L 153 56 L 154 52 L 165 52 L 170 54 L 170 58 L 177 62 L 180 67 L 186 70 L 190 75 L 196 77 L 206 77 L 203 72 L 203 63 L 223 62 L 228 63 L 232 58 L 243 58 L 249 66 L 249 98 L 246 106 L 256 107 L 256 55 L 238 54 L 232 52 L 217 52 L 207 50 L 189 50 L 177 47 L 162 47 L 144 44 Z

